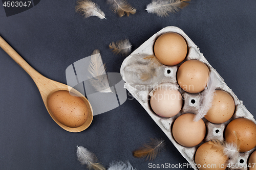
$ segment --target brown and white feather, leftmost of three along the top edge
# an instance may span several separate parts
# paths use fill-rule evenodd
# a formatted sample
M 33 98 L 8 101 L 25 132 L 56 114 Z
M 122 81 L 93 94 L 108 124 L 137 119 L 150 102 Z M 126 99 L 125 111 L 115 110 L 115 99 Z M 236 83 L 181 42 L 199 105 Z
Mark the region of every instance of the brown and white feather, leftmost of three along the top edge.
M 84 17 L 97 16 L 100 19 L 105 18 L 104 12 L 101 11 L 98 5 L 94 2 L 90 0 L 79 0 L 76 3 L 76 12 L 80 12 Z

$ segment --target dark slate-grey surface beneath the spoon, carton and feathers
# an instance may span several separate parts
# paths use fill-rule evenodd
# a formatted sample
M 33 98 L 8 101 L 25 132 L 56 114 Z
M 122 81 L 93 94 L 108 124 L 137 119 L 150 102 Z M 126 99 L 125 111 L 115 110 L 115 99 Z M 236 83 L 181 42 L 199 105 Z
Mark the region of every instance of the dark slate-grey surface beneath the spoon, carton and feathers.
M 10 17 L 0 3 L 0 35 L 42 75 L 66 83 L 66 68 L 96 48 L 108 71 L 119 72 L 124 58 L 109 50 L 110 42 L 128 38 L 134 51 L 162 28 L 177 26 L 256 115 L 256 1 L 191 1 L 165 18 L 144 11 L 151 1 L 129 0 L 137 13 L 121 18 L 105 1 L 94 2 L 107 19 L 83 18 L 75 13 L 75 0 L 41 1 Z M 76 145 L 94 152 L 106 167 L 113 160 L 129 160 L 137 169 L 148 169 L 149 162 L 187 162 L 136 100 L 71 133 L 52 120 L 33 80 L 2 49 L 0 77 L 0 169 L 85 169 Z M 154 161 L 134 158 L 132 151 L 150 138 L 165 139 L 165 152 Z

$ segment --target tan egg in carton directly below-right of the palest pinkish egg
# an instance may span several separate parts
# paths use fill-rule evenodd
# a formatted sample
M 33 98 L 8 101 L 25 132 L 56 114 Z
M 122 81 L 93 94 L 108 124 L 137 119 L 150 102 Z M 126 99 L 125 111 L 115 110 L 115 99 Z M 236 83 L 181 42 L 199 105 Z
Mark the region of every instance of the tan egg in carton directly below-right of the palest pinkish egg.
M 195 147 L 203 141 L 206 134 L 204 121 L 194 122 L 195 114 L 185 113 L 180 115 L 173 125 L 174 139 L 184 147 Z

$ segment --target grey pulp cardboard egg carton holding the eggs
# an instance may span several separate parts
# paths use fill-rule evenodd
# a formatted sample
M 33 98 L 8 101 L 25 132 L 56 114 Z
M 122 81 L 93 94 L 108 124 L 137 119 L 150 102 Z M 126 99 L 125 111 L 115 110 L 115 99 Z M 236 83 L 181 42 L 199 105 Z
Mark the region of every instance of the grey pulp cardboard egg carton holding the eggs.
M 169 83 L 177 84 L 176 72 L 179 66 L 184 61 L 176 66 L 166 66 L 166 65 L 159 66 L 157 68 L 157 76 L 150 81 L 143 82 L 143 81 L 136 80 L 136 79 L 139 79 L 138 76 L 136 77 L 136 72 L 133 72 L 133 73 L 130 72 L 131 68 L 133 67 L 133 63 L 138 62 L 139 56 L 154 55 L 154 51 L 153 51 L 154 42 L 160 35 L 167 32 L 175 32 L 183 36 L 188 46 L 188 54 L 184 61 L 197 59 L 205 63 L 208 66 L 209 70 L 216 74 L 216 78 L 218 79 L 216 80 L 218 81 L 217 89 L 222 89 L 227 91 L 232 96 L 232 98 L 234 99 L 234 103 L 236 104 L 236 109 L 233 116 L 223 124 L 212 124 L 208 122 L 205 118 L 203 118 L 207 128 L 206 136 L 204 140 L 200 144 L 196 145 L 195 147 L 190 147 L 190 148 L 183 147 L 182 145 L 177 143 L 172 135 L 172 126 L 175 119 L 181 114 L 184 114 L 184 113 L 197 114 L 197 110 L 199 108 L 199 101 L 200 101 L 200 98 L 202 97 L 200 93 L 192 94 L 192 93 L 187 93 L 184 90 L 180 89 L 180 93 L 182 94 L 182 97 L 183 97 L 183 107 L 177 115 L 170 118 L 158 116 L 156 113 L 154 113 L 154 111 L 151 109 L 151 106 L 150 106 L 149 93 L 154 89 L 154 87 L 156 87 L 158 84 L 161 84 L 161 83 L 169 82 Z M 245 106 L 243 105 L 243 102 L 240 101 L 238 97 L 233 93 L 233 91 L 227 86 L 227 84 L 224 82 L 224 79 L 218 74 L 218 72 L 208 63 L 208 61 L 205 59 L 203 54 L 200 53 L 197 45 L 181 29 L 177 27 L 165 27 L 159 32 L 157 32 L 156 34 L 154 34 L 147 41 L 145 41 L 140 47 L 138 47 L 131 55 L 129 55 L 123 61 L 120 68 L 120 74 L 125 82 L 124 88 L 126 88 L 134 96 L 134 98 L 142 105 L 142 107 L 146 110 L 146 112 L 152 117 L 152 119 L 166 134 L 169 140 L 172 141 L 172 143 L 175 145 L 175 147 L 181 153 L 181 155 L 190 163 L 191 167 L 194 167 L 194 169 L 198 169 L 195 166 L 195 160 L 194 160 L 197 148 L 204 142 L 207 142 L 211 139 L 223 140 L 224 129 L 231 120 L 238 117 L 245 117 L 252 120 L 254 123 L 256 123 L 255 119 L 253 118 L 253 115 L 245 108 Z M 240 153 L 240 156 L 237 159 L 237 164 L 236 164 L 237 167 L 239 168 L 234 167 L 229 169 L 241 169 L 241 170 L 247 169 L 246 167 L 247 159 L 249 155 L 255 150 L 255 148 L 253 148 L 250 151 Z

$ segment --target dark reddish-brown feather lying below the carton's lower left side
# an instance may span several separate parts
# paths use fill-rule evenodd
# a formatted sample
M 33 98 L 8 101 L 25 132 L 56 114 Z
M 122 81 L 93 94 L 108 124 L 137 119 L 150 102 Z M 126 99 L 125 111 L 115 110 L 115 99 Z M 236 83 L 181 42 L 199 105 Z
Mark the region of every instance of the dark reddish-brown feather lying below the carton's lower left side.
M 136 158 L 149 158 L 154 160 L 159 152 L 164 148 L 164 140 L 151 139 L 151 142 L 145 143 L 143 147 L 133 151 L 133 156 Z

